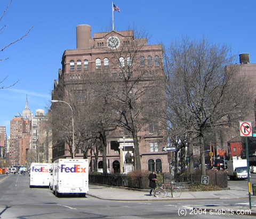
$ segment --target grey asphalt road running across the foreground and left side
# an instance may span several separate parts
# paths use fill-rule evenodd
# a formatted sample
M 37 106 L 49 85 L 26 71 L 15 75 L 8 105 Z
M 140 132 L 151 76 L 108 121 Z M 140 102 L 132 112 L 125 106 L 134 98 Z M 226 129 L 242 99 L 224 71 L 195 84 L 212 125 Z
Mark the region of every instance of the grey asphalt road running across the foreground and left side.
M 57 198 L 50 189 L 30 189 L 28 175 L 0 175 L 0 188 L 0 218 L 230 218 L 228 213 L 210 213 L 193 208 L 223 206 L 227 209 L 231 206 L 241 206 L 241 209 L 244 209 L 248 205 L 247 199 L 124 202 L 100 200 L 89 196 Z M 256 199 L 253 199 L 252 204 L 256 205 Z

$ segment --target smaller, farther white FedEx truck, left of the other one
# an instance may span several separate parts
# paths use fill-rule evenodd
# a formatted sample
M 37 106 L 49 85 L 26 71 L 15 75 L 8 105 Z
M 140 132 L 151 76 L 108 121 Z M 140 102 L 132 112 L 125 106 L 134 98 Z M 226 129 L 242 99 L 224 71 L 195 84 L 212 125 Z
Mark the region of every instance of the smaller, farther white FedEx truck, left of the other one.
M 48 163 L 31 163 L 29 187 L 32 186 L 49 186 L 50 168 Z

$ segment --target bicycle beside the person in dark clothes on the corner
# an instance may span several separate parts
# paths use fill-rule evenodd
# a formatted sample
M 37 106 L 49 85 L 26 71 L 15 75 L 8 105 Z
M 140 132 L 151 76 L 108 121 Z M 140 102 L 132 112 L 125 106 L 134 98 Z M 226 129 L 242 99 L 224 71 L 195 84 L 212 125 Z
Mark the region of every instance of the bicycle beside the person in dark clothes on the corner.
M 169 197 L 170 194 L 172 198 L 178 198 L 181 195 L 181 189 L 174 187 L 174 182 L 171 184 L 158 183 L 158 188 L 154 190 L 154 195 L 157 198 Z

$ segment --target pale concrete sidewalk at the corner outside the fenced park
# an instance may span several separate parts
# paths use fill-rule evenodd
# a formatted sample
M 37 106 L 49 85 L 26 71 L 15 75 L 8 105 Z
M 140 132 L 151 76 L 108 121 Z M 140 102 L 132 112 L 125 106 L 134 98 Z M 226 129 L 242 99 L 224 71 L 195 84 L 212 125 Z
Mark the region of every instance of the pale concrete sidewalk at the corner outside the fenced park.
M 249 202 L 248 191 L 243 188 L 231 187 L 229 189 L 220 190 L 220 191 L 200 191 L 200 192 L 190 192 L 190 191 L 182 191 L 181 196 L 179 198 L 156 198 L 154 196 L 149 196 L 149 190 L 134 190 L 129 188 L 120 188 L 115 186 L 108 185 L 99 185 L 99 184 L 90 184 L 89 185 L 89 193 L 87 195 L 103 199 L 103 200 L 115 200 L 115 201 L 177 201 L 177 200 L 202 200 L 202 199 L 241 199 L 247 198 Z M 252 195 L 252 194 L 251 194 Z M 256 196 L 251 196 L 251 201 L 254 202 L 252 204 L 251 215 L 256 215 Z M 203 209 L 206 210 L 221 210 L 223 206 L 214 206 L 206 208 L 202 206 Z M 201 209 L 202 209 L 201 208 Z M 225 207 L 226 209 L 226 207 Z M 241 210 L 241 207 L 231 207 L 230 210 L 233 209 L 234 212 L 236 210 Z M 249 205 L 243 207 L 243 210 L 249 209 Z

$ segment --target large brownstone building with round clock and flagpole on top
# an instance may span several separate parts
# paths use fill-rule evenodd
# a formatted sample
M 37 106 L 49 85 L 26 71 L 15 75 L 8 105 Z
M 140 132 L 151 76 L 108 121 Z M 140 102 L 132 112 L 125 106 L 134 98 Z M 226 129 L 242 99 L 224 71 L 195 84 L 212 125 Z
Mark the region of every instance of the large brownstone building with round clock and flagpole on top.
M 161 44 L 148 45 L 147 38 L 135 38 L 132 30 L 126 31 L 109 31 L 103 33 L 94 33 L 91 36 L 91 26 L 79 25 L 76 27 L 77 48 L 74 50 L 66 50 L 62 55 L 62 69 L 59 69 L 58 81 L 54 81 L 54 90 L 52 92 L 52 100 L 61 100 L 68 102 L 68 87 L 75 87 L 77 84 L 83 84 L 86 77 L 97 77 L 97 72 L 105 71 L 109 75 L 109 86 L 120 82 L 126 77 L 124 68 L 133 67 L 129 77 L 139 78 L 139 74 L 143 75 L 143 80 L 138 86 L 130 91 L 130 94 L 139 91 L 143 86 L 154 84 L 156 78 L 164 76 L 162 68 L 163 48 Z M 137 46 L 134 52 L 133 46 Z M 132 48 L 133 55 L 129 55 L 126 48 Z M 125 52 L 126 53 L 125 53 Z M 132 53 L 131 52 L 131 53 Z M 125 55 L 124 55 L 125 53 Z M 134 55 L 135 54 L 135 55 Z M 113 61 L 113 56 L 117 55 L 117 61 Z M 136 66 L 136 67 L 135 67 Z M 61 88 L 65 90 L 59 95 Z M 78 88 L 79 90 L 79 88 Z M 150 95 L 155 90 L 151 89 Z M 58 95 L 57 95 L 58 93 Z M 80 91 L 77 99 L 85 99 L 83 96 L 85 91 Z M 161 92 L 160 92 L 161 93 Z M 154 96 L 154 95 L 153 95 Z M 155 101 L 151 101 L 153 108 L 160 107 L 159 99 L 155 96 Z M 141 98 L 139 99 L 141 101 Z M 78 101 L 79 102 L 79 101 Z M 52 108 L 54 110 L 54 108 Z M 157 111 L 157 110 L 156 110 Z M 143 115 L 141 116 L 143 117 Z M 54 117 L 53 117 L 54 121 Z M 169 163 L 167 160 L 167 152 L 162 148 L 167 145 L 167 137 L 164 134 L 162 123 L 157 119 L 142 125 L 138 132 L 138 142 L 140 149 L 141 169 L 152 171 L 155 169 L 159 172 L 169 172 Z M 76 141 L 76 139 L 75 139 Z M 54 131 L 53 131 L 54 142 Z M 62 150 L 60 148 L 62 147 Z M 58 158 L 70 157 L 70 152 L 65 143 L 53 143 L 52 157 L 53 160 Z M 134 162 L 134 139 L 127 134 L 123 128 L 118 127 L 116 131 L 111 132 L 107 136 L 107 168 L 110 172 L 127 172 L 125 169 L 127 163 L 125 155 L 127 153 L 133 157 Z M 76 151 L 76 157 L 82 158 L 81 150 Z M 88 153 L 90 159 L 91 171 L 97 165 L 98 169 L 102 168 L 102 154 L 99 153 L 98 162 L 92 151 Z M 131 171 L 131 169 L 130 169 Z

